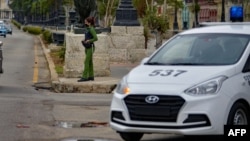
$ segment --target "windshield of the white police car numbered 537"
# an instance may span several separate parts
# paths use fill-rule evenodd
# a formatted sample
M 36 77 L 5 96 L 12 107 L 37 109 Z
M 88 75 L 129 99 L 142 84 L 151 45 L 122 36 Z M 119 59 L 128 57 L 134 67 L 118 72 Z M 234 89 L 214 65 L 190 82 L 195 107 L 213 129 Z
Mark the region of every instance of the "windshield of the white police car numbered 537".
M 148 65 L 230 65 L 236 63 L 249 43 L 249 35 L 178 35 L 147 62 Z

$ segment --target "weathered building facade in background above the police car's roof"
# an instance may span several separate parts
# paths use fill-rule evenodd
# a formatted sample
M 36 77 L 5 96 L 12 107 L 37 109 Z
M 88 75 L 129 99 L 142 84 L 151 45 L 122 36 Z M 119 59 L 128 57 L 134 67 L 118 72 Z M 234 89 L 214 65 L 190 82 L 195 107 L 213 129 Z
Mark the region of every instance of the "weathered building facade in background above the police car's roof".
M 194 27 L 197 23 L 201 22 L 221 22 L 222 16 L 222 0 L 197 0 L 199 10 L 197 12 L 197 21 L 195 20 L 195 12 L 193 10 L 196 0 L 179 0 L 183 1 L 184 8 L 178 9 L 177 21 L 179 30 L 188 29 Z M 244 2 L 244 3 L 243 3 Z M 224 0 L 224 14 L 225 21 L 230 21 L 230 8 L 232 6 L 243 6 L 244 9 L 244 20 L 250 20 L 250 1 L 244 0 Z M 163 14 L 163 6 L 158 6 L 158 14 Z M 168 17 L 170 29 L 174 23 L 174 7 L 168 5 L 166 15 Z

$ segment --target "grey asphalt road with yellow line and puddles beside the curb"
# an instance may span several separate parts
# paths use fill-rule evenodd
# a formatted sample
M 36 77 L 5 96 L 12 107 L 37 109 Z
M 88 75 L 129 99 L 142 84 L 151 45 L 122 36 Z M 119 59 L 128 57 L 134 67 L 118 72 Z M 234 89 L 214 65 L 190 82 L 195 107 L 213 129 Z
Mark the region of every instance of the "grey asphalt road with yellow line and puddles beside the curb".
M 37 37 L 13 27 L 13 34 L 0 40 L 4 42 L 1 141 L 122 141 L 108 125 L 112 94 L 53 93 Z M 182 140 L 190 138 L 171 134 L 146 134 L 142 138 Z

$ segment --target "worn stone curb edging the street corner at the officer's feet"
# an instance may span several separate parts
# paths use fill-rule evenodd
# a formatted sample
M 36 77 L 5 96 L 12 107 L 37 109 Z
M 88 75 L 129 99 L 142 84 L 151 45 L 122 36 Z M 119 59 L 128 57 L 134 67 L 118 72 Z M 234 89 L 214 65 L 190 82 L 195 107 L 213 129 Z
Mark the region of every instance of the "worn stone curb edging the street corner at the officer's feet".
M 111 94 L 117 83 L 120 81 L 118 78 L 112 77 L 95 77 L 95 81 L 77 82 L 77 78 L 59 78 L 55 71 L 55 64 L 50 56 L 50 49 L 47 49 L 41 39 L 44 55 L 46 57 L 52 90 L 56 93 L 105 93 Z

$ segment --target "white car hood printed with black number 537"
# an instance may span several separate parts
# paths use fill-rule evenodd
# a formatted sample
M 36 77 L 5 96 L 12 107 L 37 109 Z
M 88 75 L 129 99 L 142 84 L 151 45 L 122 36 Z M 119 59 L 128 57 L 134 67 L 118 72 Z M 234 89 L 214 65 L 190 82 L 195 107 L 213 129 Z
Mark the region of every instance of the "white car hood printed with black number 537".
M 234 66 L 150 66 L 139 65 L 127 75 L 128 84 L 192 85 L 235 73 Z

